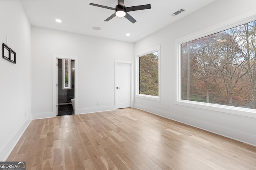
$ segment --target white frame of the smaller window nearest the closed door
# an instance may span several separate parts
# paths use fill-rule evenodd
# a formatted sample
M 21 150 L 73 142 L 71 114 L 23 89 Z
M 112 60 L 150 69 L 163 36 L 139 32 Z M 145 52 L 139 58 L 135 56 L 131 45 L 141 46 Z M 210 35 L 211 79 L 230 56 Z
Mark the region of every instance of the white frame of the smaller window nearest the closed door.
M 152 96 L 152 95 L 146 95 L 146 94 L 140 94 L 140 57 L 150 54 L 150 53 L 154 53 L 158 51 L 158 96 Z M 161 98 L 161 46 L 158 45 L 156 47 L 150 48 L 146 51 L 143 51 L 141 53 L 138 53 L 135 56 L 135 61 L 136 61 L 136 89 L 135 89 L 135 97 L 137 98 L 144 98 L 144 99 L 149 99 L 149 100 L 156 100 L 156 101 L 160 101 Z

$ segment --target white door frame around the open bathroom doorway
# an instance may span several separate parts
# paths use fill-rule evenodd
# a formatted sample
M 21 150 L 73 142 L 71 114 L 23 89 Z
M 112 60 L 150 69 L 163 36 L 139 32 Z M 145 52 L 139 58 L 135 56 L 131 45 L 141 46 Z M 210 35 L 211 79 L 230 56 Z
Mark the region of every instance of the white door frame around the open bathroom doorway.
M 53 88 L 52 88 L 52 117 L 56 117 L 58 114 L 58 59 L 72 59 L 75 61 L 75 114 L 78 111 L 78 57 L 65 56 L 65 55 L 53 55 Z

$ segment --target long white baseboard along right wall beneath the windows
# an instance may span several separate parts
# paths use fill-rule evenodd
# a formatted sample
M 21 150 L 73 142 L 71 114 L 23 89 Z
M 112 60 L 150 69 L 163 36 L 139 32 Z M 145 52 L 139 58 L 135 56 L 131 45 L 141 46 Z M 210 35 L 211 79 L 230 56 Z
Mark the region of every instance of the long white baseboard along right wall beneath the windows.
M 229 139 L 234 139 L 236 141 L 240 141 L 242 143 L 246 143 L 248 145 L 252 145 L 252 146 L 256 147 L 256 135 L 244 133 L 242 131 L 237 131 L 235 129 L 230 129 L 228 127 L 223 127 L 223 126 L 216 125 L 213 123 L 199 121 L 196 119 L 192 119 L 190 117 L 185 117 L 183 115 L 182 116 L 177 115 L 177 114 L 163 111 L 160 109 L 155 109 L 155 108 L 148 107 L 148 106 L 142 106 L 139 104 L 135 104 L 134 108 L 140 109 L 143 111 L 147 111 L 149 113 L 152 113 L 152 114 L 155 114 L 155 115 L 158 115 L 161 117 L 165 117 L 167 119 L 171 119 L 171 120 L 174 120 L 174 121 L 177 121 L 180 123 L 184 123 L 186 125 L 190 125 L 192 127 L 196 127 L 198 129 L 202 129 L 202 130 L 205 130 L 205 131 L 208 131 L 211 133 L 215 133 L 217 135 L 221 135 L 223 137 L 227 137 Z M 198 126 L 198 125 L 200 125 L 200 126 Z

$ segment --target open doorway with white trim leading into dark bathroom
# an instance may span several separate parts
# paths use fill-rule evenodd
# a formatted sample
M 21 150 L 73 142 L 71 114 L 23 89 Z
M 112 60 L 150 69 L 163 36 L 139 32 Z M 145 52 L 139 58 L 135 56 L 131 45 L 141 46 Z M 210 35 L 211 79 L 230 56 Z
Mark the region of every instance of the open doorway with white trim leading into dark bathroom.
M 66 75 L 63 74 L 63 71 L 61 72 L 61 74 L 58 73 L 59 70 L 62 70 L 65 67 L 63 66 L 65 62 L 63 63 L 62 61 L 63 60 L 65 61 L 66 59 L 69 59 L 70 61 L 70 65 L 69 67 L 67 67 L 67 69 L 70 72 L 69 76 L 68 76 L 68 72 L 65 72 L 65 71 L 64 73 Z M 68 62 L 68 60 L 66 60 L 66 62 Z M 60 66 L 61 68 L 58 68 L 58 66 Z M 61 88 L 61 90 L 63 90 L 64 88 L 66 89 L 67 92 L 62 92 L 59 90 L 59 88 Z M 53 97 L 53 100 L 52 100 L 53 102 L 52 116 L 53 117 L 56 117 L 58 115 L 78 114 L 78 97 L 77 97 L 78 96 L 78 57 L 53 55 L 53 93 L 52 94 L 53 94 L 52 96 Z M 66 114 L 64 112 L 62 113 L 59 112 L 58 114 L 58 111 L 60 111 L 61 109 L 66 110 Z

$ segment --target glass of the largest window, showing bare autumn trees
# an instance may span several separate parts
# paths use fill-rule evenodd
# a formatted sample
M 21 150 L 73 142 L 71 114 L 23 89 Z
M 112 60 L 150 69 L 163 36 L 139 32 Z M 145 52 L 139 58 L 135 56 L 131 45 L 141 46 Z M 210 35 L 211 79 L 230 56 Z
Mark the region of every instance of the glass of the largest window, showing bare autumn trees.
M 256 109 L 256 21 L 180 46 L 182 100 Z

